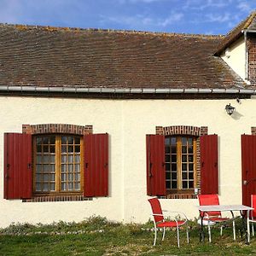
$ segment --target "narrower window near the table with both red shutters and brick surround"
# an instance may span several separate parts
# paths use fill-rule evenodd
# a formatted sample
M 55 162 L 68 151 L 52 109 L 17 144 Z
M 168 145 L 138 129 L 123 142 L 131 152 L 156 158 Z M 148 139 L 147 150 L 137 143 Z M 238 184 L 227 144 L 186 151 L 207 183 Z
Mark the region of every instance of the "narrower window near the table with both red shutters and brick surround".
M 147 195 L 218 194 L 218 135 L 206 135 L 205 128 L 157 126 L 158 134 L 146 136 Z

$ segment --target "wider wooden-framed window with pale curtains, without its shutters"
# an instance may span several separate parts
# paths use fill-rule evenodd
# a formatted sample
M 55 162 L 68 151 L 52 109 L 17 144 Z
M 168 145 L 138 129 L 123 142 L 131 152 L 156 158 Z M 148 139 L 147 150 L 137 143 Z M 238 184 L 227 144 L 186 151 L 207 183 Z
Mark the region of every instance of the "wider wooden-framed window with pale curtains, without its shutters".
M 34 193 L 82 190 L 82 137 L 43 135 L 33 143 Z

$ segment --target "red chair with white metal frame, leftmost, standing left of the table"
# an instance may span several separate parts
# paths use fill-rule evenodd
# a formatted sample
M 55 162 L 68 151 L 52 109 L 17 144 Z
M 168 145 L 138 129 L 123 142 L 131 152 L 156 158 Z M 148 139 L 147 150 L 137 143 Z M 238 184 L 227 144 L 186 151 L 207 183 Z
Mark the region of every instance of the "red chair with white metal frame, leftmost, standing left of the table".
M 151 198 L 148 200 L 151 208 L 152 208 L 152 212 L 153 212 L 153 220 L 154 220 L 154 246 L 156 243 L 156 238 L 157 238 L 157 230 L 158 229 L 163 229 L 163 236 L 162 236 L 162 241 L 164 241 L 165 236 L 166 236 L 166 228 L 177 228 L 177 247 L 179 247 L 179 230 L 178 228 L 180 226 L 183 226 L 184 224 L 186 224 L 186 228 L 187 228 L 187 241 L 189 243 L 189 229 L 188 229 L 188 218 L 186 217 L 186 215 L 183 212 L 170 212 L 170 213 L 176 213 L 177 215 L 183 215 L 183 217 L 185 218 L 184 220 L 177 220 L 177 218 L 173 218 L 174 220 L 169 220 L 169 219 L 165 219 L 166 217 L 170 218 L 171 215 L 170 214 L 163 214 L 163 211 L 161 209 L 160 206 L 160 201 L 158 200 L 158 198 Z M 169 212 L 169 211 L 164 211 L 164 212 Z

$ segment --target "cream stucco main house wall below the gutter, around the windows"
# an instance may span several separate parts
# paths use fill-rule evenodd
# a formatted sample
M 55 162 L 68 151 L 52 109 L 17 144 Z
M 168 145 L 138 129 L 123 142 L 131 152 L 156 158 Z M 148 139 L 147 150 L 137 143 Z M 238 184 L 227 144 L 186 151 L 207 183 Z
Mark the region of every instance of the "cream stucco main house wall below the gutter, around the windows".
M 236 113 L 224 108 L 231 103 Z M 241 203 L 241 134 L 256 126 L 256 99 L 241 100 L 90 100 L 0 97 L 0 226 L 12 222 L 81 221 L 91 215 L 111 220 L 145 222 L 146 134 L 156 125 L 208 126 L 219 139 L 219 196 Z M 109 134 L 109 196 L 93 201 L 21 202 L 3 199 L 3 133 L 21 132 L 22 124 L 93 125 Z M 198 215 L 197 200 L 161 200 L 165 209 Z

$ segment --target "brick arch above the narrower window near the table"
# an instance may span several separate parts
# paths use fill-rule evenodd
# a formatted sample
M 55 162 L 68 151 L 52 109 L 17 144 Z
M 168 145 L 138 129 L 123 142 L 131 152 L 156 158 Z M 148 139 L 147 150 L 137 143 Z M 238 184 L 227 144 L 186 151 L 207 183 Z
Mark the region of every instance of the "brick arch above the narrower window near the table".
M 191 135 L 200 137 L 208 134 L 207 126 L 188 126 L 188 125 L 172 125 L 172 126 L 156 126 L 155 134 L 157 135 Z

